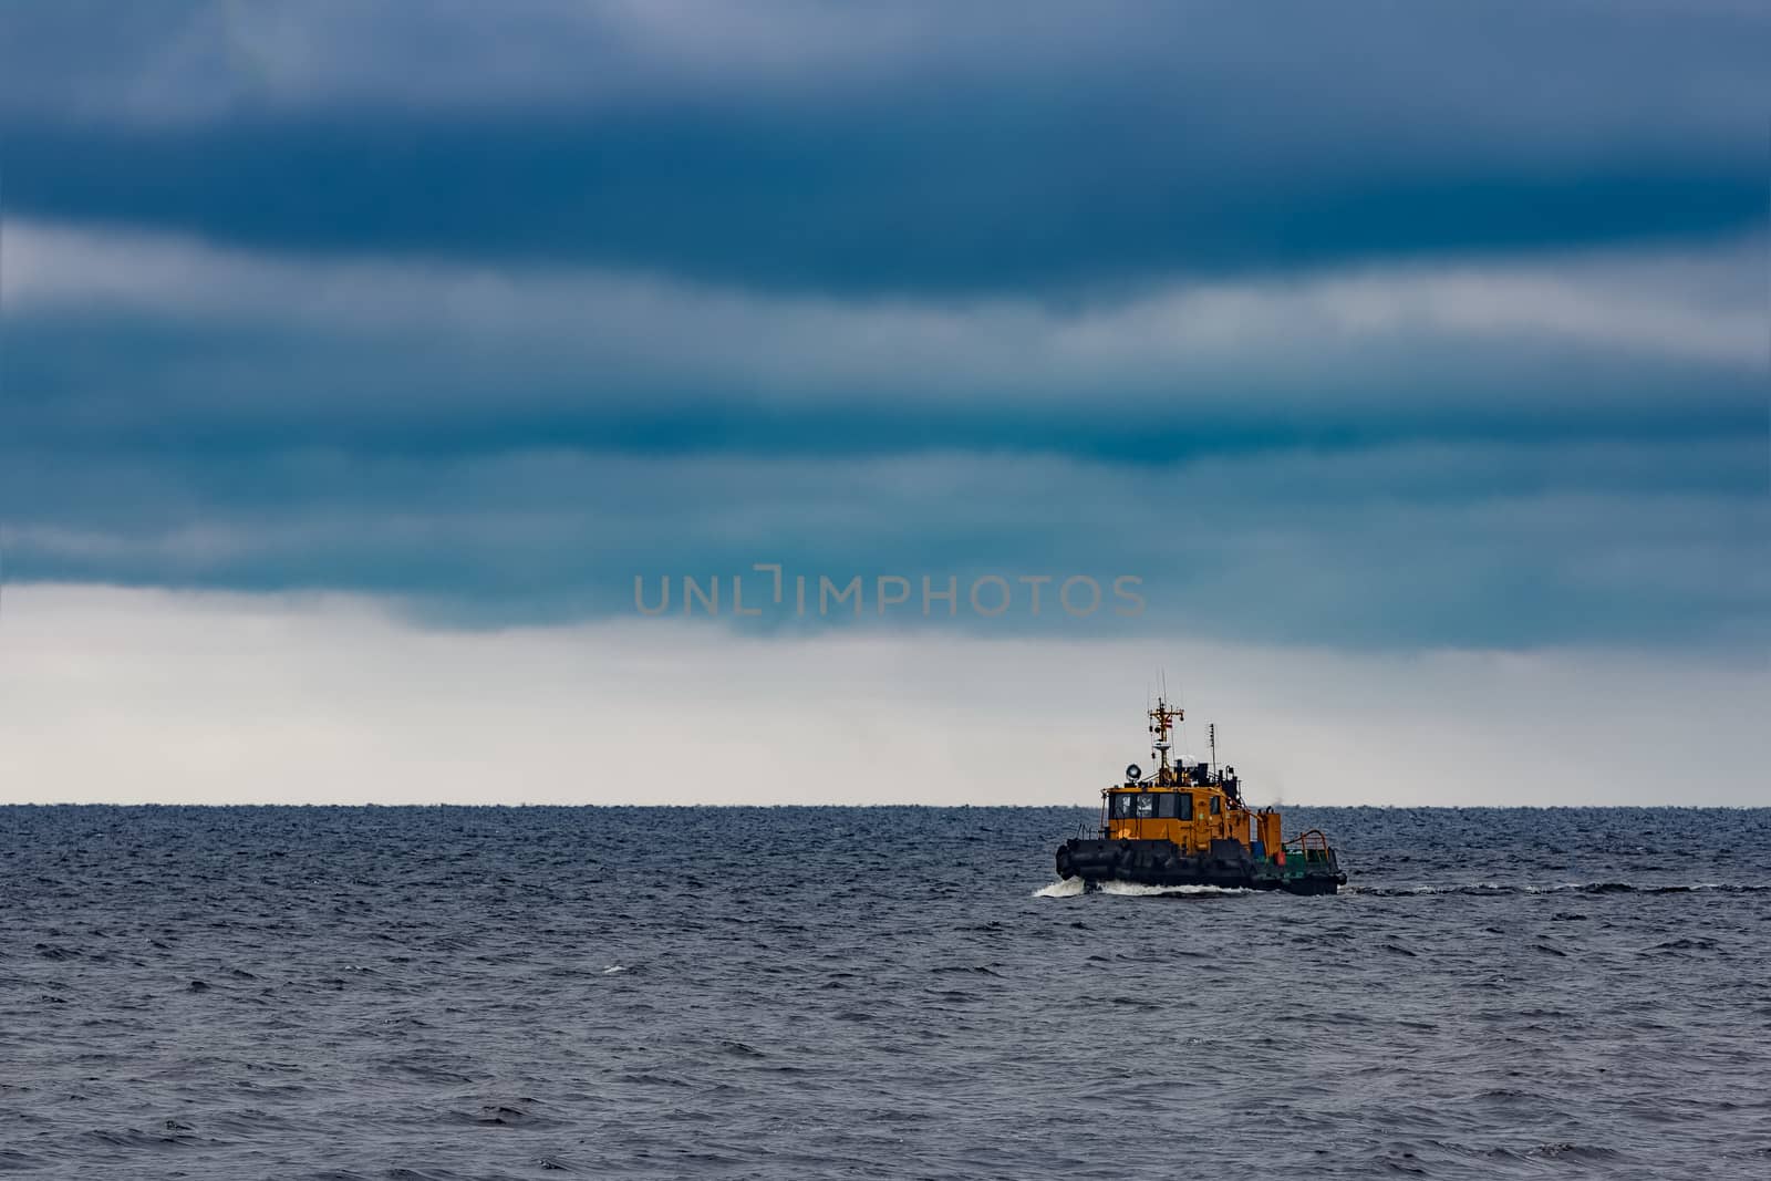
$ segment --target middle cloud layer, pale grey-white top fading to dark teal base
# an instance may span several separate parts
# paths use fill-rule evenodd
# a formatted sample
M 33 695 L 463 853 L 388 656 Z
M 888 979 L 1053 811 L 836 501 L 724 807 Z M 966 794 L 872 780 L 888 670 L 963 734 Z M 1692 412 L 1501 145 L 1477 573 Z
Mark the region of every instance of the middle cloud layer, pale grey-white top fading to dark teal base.
M 14 441 L 652 455 L 1752 434 L 1762 239 L 1130 301 L 774 297 L 14 225 Z

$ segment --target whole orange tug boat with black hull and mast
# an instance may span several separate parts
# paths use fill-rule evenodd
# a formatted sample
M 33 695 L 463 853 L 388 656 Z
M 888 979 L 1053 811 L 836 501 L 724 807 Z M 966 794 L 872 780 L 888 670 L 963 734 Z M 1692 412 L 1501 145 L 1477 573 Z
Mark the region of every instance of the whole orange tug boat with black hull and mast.
M 1133 763 L 1125 783 L 1102 791 L 1100 827 L 1059 846 L 1057 875 L 1087 889 L 1133 882 L 1334 894 L 1346 885 L 1318 829 L 1286 841 L 1277 811 L 1243 802 L 1236 768 L 1217 767 L 1217 726 L 1210 763 L 1169 763 L 1169 733 L 1183 717 L 1156 698 L 1149 733 L 1160 767 L 1144 776 Z

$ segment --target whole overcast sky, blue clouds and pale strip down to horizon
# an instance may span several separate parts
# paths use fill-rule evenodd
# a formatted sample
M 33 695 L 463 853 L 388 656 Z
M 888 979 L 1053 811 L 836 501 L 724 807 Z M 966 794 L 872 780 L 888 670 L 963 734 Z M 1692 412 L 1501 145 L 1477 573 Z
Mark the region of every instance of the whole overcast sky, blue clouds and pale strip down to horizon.
M 1087 804 L 1165 673 L 1256 799 L 1771 804 L 1766 60 L 7 5 L 0 802 Z

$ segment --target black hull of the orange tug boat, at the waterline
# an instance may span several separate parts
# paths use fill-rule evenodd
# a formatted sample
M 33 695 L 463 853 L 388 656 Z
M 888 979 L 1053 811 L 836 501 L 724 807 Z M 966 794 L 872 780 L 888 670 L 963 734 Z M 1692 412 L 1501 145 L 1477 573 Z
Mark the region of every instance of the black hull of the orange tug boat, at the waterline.
M 1183 853 L 1174 841 L 1075 838 L 1057 850 L 1057 875 L 1086 885 L 1215 885 L 1288 894 L 1334 894 L 1346 884 L 1334 850 L 1277 861 L 1254 857 L 1240 841 L 1211 841 L 1204 852 Z

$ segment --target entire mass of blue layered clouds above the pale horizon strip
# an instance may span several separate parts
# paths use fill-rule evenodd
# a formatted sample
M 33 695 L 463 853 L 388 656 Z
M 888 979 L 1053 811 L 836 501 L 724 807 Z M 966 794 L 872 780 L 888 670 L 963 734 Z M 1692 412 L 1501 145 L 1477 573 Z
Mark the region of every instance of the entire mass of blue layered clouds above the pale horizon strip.
M 1757 7 L 1008 11 L 9 7 L 9 574 L 1764 643 Z

